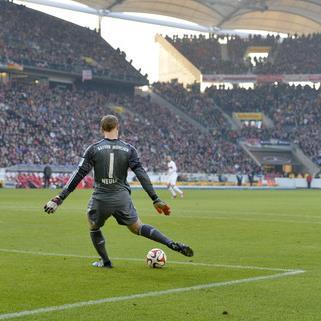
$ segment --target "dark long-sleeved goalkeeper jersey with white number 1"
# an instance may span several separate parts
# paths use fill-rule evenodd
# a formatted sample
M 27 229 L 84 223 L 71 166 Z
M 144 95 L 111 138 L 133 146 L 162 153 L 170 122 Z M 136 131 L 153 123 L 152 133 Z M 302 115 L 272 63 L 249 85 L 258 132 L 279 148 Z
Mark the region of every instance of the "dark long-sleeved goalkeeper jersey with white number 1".
M 107 138 L 87 148 L 78 169 L 73 173 L 59 196 L 65 199 L 92 169 L 95 177 L 93 192 L 95 199 L 108 200 L 110 197 L 116 197 L 120 191 L 130 193 L 130 186 L 127 182 L 128 169 L 135 173 L 150 198 L 157 199 L 153 185 L 139 160 L 136 149 L 122 140 Z

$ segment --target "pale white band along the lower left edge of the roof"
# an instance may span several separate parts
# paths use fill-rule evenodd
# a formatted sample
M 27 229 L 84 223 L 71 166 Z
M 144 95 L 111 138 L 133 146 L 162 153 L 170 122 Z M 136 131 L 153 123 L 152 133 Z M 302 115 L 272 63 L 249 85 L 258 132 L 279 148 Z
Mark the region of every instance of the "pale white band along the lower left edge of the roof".
M 220 31 L 220 29 L 217 27 L 206 27 L 196 23 L 176 21 L 178 19 L 175 19 L 175 21 L 173 21 L 173 18 L 158 19 L 158 18 L 147 16 L 145 14 L 128 14 L 124 12 L 112 12 L 110 10 L 94 9 L 94 8 L 91 8 L 85 5 L 79 5 L 76 3 L 75 4 L 62 3 L 62 2 L 53 1 L 53 0 L 20 0 L 20 1 L 29 2 L 29 3 L 38 4 L 38 5 L 47 6 L 47 7 L 78 11 L 82 13 L 96 15 L 99 17 L 109 17 L 109 18 L 123 19 L 123 20 L 129 20 L 129 21 L 143 22 L 143 23 L 178 28 L 178 29 L 186 29 L 186 30 L 205 32 L 205 33 Z

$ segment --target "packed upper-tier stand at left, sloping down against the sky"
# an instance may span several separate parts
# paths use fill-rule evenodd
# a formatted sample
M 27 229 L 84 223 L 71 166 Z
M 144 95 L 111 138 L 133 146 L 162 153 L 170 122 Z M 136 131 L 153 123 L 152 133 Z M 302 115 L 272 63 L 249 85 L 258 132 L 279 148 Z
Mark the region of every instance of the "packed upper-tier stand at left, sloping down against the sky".
M 61 72 L 82 73 L 111 79 L 144 78 L 97 32 L 67 21 L 0 1 L 0 64 Z

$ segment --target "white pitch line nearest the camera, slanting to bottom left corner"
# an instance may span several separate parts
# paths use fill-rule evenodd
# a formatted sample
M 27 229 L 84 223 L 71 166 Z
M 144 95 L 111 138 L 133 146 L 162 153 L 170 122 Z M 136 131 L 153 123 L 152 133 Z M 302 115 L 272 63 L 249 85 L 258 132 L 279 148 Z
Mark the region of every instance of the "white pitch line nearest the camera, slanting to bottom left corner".
M 279 279 L 282 277 L 297 275 L 301 273 L 304 273 L 304 271 L 301 271 L 301 270 L 289 271 L 289 272 L 283 272 L 283 273 L 278 273 L 278 274 L 268 275 L 268 276 L 257 276 L 253 278 L 246 278 L 246 279 L 240 279 L 240 280 L 199 284 L 199 285 L 194 285 L 194 286 L 185 287 L 185 288 L 175 288 L 175 289 L 168 289 L 163 291 L 144 292 L 144 293 L 137 293 L 137 294 L 131 294 L 131 295 L 109 297 L 109 298 L 98 299 L 98 300 L 82 301 L 82 302 L 76 302 L 71 304 L 56 305 L 56 306 L 39 308 L 34 310 L 0 314 L 0 320 L 9 320 L 9 319 L 19 318 L 23 316 L 28 316 L 28 315 L 63 311 L 63 310 L 82 308 L 85 306 L 98 305 L 98 304 L 104 304 L 104 303 L 120 302 L 120 301 L 127 301 L 127 300 L 141 299 L 141 298 L 148 298 L 148 297 L 158 297 L 158 296 L 168 295 L 168 294 L 183 293 L 183 292 L 197 291 L 197 290 L 210 289 L 210 288 L 218 288 L 222 286 L 230 286 L 230 285 L 257 282 L 257 281 L 263 281 L 263 280 L 273 280 L 273 279 Z

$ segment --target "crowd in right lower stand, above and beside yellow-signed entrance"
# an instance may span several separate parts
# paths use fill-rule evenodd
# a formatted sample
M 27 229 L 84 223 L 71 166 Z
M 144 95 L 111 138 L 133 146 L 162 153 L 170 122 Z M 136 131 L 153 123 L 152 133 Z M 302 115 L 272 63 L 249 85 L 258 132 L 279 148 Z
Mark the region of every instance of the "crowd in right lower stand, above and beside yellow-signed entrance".
M 320 165 L 321 94 L 310 86 L 264 85 L 255 89 L 216 90 L 212 97 L 224 110 L 259 111 L 273 121 L 273 128 L 258 131 L 262 139 L 288 140 L 300 146 L 306 155 Z M 215 98 L 214 98 L 215 97 Z M 262 137 L 264 135 L 264 137 Z M 252 133 L 252 138 L 254 137 Z

